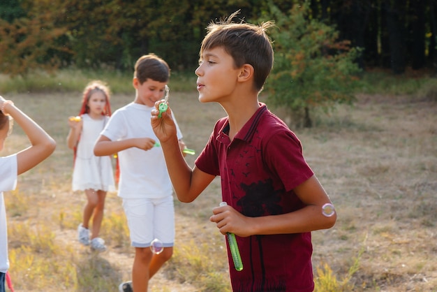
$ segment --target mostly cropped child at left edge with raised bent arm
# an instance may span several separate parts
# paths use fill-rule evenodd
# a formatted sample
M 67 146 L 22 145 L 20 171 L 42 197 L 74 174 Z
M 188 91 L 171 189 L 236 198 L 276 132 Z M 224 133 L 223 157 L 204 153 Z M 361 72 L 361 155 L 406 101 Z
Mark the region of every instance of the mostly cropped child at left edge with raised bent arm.
M 34 168 L 54 152 L 56 143 L 34 120 L 18 109 L 12 101 L 0 96 L 0 151 L 12 129 L 13 120 L 23 129 L 31 143 L 30 147 L 15 154 L 0 157 L 0 292 L 5 292 L 5 278 L 9 268 L 8 232 L 3 191 L 12 191 L 17 185 L 17 176 Z

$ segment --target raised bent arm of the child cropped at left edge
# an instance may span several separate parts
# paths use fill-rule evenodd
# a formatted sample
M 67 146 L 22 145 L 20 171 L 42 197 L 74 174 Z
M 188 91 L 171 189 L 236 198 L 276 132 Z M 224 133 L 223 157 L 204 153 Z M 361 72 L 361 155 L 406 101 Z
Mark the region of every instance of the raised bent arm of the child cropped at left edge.
M 17 153 L 17 175 L 21 175 L 50 156 L 54 152 L 56 143 L 43 128 L 20 109 L 16 108 L 13 103 L 5 103 L 3 105 L 4 102 L 5 99 L 0 96 L 0 105 L 3 108 L 3 113 L 13 117 L 14 121 L 26 133 L 31 143 L 31 147 Z

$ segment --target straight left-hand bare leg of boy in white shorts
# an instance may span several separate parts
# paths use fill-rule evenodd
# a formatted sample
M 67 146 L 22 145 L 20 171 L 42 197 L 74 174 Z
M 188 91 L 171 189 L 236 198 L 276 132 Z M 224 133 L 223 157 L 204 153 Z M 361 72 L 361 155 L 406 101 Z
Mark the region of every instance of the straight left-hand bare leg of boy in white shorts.
M 132 266 L 132 286 L 135 292 L 146 292 L 149 286 L 149 265 L 152 253 L 149 247 L 135 247 Z

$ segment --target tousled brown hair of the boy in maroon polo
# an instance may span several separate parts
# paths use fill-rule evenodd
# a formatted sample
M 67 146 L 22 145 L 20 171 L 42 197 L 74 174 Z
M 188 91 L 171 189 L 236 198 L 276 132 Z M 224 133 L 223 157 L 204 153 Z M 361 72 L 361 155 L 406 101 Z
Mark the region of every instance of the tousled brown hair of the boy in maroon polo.
M 273 67 L 272 41 L 266 31 L 274 26 L 274 22 L 262 22 L 259 26 L 243 21 L 232 22 L 238 13 L 236 11 L 225 20 L 209 24 L 200 48 L 200 59 L 205 50 L 223 48 L 234 59 L 235 68 L 244 64 L 253 66 L 255 89 L 260 91 Z

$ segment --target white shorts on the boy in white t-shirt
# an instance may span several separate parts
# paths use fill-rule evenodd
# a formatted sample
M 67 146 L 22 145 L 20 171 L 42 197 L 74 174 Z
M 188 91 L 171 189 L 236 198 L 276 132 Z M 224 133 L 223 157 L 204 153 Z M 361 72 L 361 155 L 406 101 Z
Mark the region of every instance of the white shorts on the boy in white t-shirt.
M 175 243 L 175 206 L 173 196 L 165 198 L 123 199 L 133 247 L 149 247 L 158 238 L 164 247 Z

